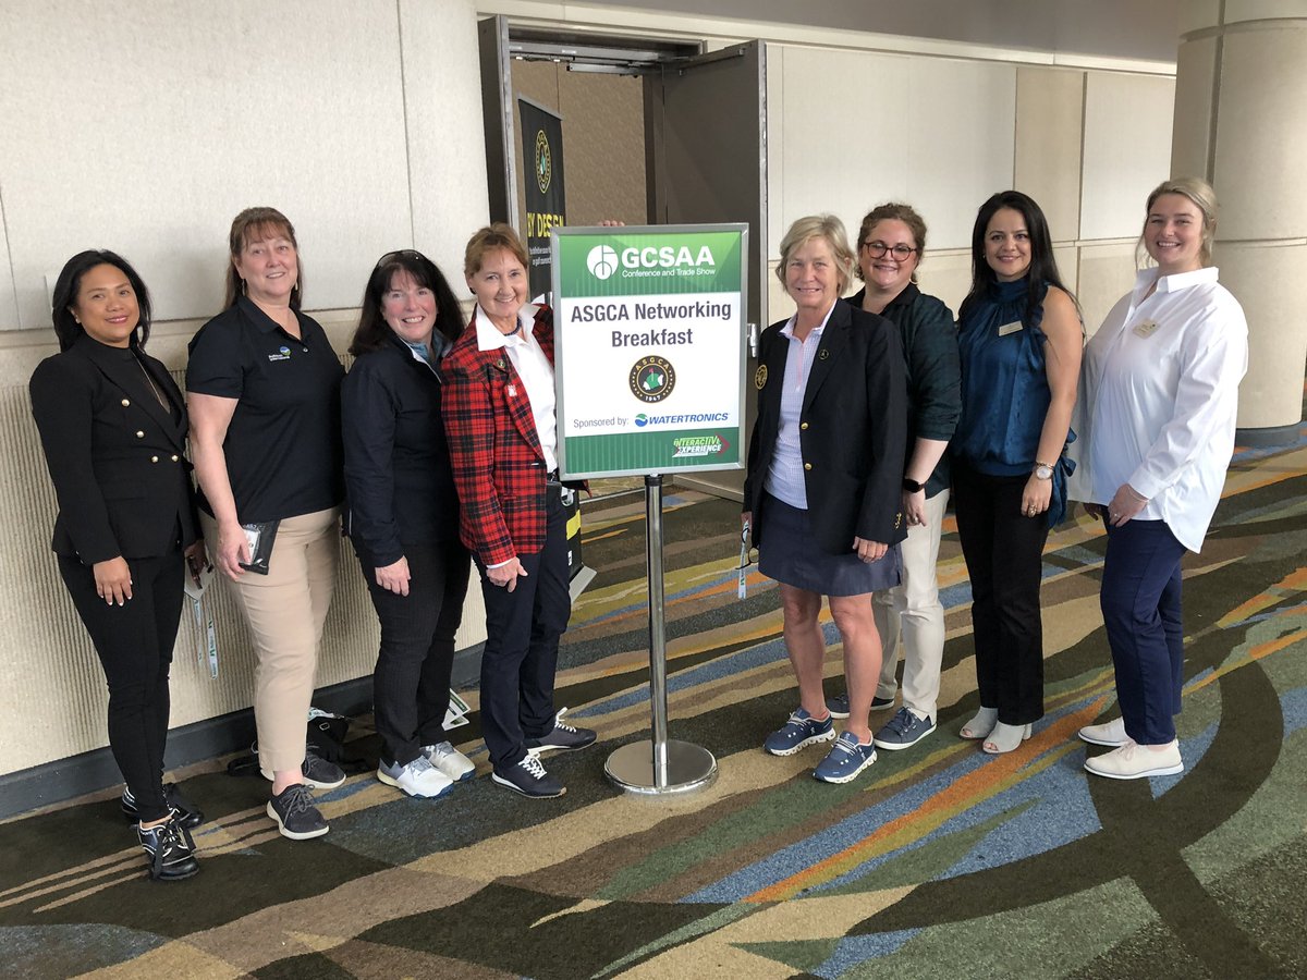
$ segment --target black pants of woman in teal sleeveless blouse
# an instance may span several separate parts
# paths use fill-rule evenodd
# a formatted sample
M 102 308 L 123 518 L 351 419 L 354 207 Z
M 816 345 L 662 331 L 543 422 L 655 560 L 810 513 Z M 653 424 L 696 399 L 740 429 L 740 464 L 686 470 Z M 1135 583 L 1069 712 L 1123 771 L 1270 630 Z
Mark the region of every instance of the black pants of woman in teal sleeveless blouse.
M 953 506 L 971 578 L 971 629 L 980 704 L 1006 725 L 1044 715 L 1039 583 L 1047 515 L 1021 511 L 1026 476 L 991 477 L 954 461 Z

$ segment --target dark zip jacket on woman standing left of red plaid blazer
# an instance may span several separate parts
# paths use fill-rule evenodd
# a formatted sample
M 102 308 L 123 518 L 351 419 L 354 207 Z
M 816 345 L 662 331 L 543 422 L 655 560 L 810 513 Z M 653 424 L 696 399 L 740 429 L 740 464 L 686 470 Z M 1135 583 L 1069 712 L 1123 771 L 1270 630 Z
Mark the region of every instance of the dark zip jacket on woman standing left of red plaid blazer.
M 341 384 L 345 531 L 376 567 L 397 562 L 405 544 L 459 537 L 440 387 L 393 336 L 361 354 Z

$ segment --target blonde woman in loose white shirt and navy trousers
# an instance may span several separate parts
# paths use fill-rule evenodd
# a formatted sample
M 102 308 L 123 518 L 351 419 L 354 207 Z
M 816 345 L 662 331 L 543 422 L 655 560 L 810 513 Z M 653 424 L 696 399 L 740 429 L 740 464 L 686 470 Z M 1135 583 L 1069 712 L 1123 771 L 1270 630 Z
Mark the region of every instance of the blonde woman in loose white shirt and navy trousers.
M 1197 178 L 1149 195 L 1140 240 L 1157 268 L 1138 273 L 1085 350 L 1070 495 L 1107 525 L 1100 604 L 1121 710 L 1080 730 L 1114 749 L 1086 759 L 1097 776 L 1184 768 L 1180 558 L 1202 546 L 1221 497 L 1248 365 L 1243 308 L 1210 265 L 1216 210 Z

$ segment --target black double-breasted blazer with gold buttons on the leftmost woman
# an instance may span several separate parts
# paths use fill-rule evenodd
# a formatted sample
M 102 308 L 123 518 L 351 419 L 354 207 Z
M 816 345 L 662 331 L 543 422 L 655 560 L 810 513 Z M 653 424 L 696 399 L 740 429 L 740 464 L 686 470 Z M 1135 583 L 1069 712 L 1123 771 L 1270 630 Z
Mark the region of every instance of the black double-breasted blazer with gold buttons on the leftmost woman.
M 156 558 L 199 538 L 182 392 L 154 358 L 82 335 L 31 375 L 31 414 L 59 498 L 51 547 L 82 564 Z M 171 402 L 165 409 L 141 371 Z

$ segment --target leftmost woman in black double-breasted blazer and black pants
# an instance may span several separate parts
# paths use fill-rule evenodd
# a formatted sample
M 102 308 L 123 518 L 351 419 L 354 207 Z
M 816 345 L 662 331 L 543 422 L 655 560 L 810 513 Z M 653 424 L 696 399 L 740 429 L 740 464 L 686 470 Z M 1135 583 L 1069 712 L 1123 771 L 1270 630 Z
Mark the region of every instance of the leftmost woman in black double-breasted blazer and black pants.
M 73 256 L 59 273 L 60 353 L 31 375 L 31 412 L 59 499 L 52 547 L 108 682 L 108 742 L 127 788 L 123 811 L 156 879 L 195 874 L 190 830 L 204 819 L 163 785 L 169 666 L 186 574 L 204 563 L 187 416 L 167 368 L 149 357 L 150 299 L 112 252 Z

